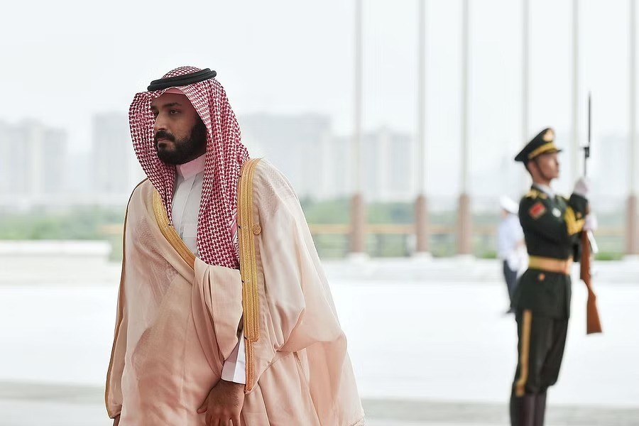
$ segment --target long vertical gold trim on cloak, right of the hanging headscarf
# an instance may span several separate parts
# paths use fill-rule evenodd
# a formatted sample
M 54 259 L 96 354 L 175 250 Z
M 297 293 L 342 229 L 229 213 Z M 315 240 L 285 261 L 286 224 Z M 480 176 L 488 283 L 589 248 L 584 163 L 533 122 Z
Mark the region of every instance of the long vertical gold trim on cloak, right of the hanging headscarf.
M 246 339 L 246 392 L 253 388 L 255 354 L 253 344 L 260 338 L 260 297 L 258 293 L 255 236 L 261 231 L 253 223 L 253 175 L 261 158 L 253 158 L 242 165 L 237 187 L 237 228 L 242 277 L 242 309 L 244 311 L 244 339 Z

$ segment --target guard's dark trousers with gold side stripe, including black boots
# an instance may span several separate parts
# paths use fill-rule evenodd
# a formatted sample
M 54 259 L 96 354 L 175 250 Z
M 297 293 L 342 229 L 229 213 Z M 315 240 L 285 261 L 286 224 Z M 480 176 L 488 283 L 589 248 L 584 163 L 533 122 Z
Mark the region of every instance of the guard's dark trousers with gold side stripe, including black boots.
M 510 398 L 510 424 L 544 424 L 546 390 L 557 382 L 568 320 L 517 312 L 518 363 Z

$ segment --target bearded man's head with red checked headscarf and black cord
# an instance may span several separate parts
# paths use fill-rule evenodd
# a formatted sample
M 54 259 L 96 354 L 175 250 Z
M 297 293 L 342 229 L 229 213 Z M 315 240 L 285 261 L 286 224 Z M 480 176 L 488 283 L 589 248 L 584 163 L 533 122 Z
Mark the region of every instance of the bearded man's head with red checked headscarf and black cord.
M 206 154 L 197 221 L 197 251 L 209 265 L 239 266 L 237 187 L 249 152 L 217 73 L 179 67 L 133 97 L 131 141 L 142 170 L 172 214 L 175 165 Z

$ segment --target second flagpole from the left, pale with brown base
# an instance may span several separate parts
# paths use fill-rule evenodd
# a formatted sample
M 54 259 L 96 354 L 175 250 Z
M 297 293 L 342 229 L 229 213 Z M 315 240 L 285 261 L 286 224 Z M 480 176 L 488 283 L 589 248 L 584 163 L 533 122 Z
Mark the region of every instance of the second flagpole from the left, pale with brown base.
M 417 0 L 417 199 L 415 236 L 418 255 L 428 252 L 428 204 L 426 198 L 426 0 Z

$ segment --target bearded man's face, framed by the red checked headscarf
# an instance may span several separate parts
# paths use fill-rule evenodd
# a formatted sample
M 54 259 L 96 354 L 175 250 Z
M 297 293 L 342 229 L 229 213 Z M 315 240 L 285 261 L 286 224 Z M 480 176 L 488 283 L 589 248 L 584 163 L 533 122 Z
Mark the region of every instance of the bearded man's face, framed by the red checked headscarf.
M 153 99 L 153 142 L 158 158 L 184 164 L 207 151 L 207 128 L 184 94 L 165 92 Z

